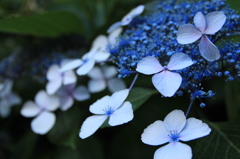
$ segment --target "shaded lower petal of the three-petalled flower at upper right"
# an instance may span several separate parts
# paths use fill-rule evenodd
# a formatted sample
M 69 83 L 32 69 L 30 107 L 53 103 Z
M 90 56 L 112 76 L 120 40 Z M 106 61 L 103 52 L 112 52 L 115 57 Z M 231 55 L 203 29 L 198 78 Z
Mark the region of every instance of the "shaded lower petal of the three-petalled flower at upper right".
M 202 57 L 208 61 L 218 60 L 221 56 L 218 48 L 205 35 L 201 38 L 199 51 Z

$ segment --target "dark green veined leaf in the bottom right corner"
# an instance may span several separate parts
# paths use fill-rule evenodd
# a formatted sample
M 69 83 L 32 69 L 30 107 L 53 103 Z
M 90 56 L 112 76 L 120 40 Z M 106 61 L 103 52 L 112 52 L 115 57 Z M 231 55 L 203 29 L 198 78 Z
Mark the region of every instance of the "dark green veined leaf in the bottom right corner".
M 194 159 L 240 158 L 240 122 L 208 123 L 209 136 L 197 140 Z

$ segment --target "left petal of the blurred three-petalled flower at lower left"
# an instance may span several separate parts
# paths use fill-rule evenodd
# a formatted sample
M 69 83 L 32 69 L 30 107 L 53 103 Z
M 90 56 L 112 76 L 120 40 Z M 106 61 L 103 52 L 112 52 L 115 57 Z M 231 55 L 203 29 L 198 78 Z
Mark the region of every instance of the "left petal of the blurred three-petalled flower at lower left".
M 40 113 L 41 109 L 32 101 L 24 103 L 20 113 L 24 117 L 34 117 Z

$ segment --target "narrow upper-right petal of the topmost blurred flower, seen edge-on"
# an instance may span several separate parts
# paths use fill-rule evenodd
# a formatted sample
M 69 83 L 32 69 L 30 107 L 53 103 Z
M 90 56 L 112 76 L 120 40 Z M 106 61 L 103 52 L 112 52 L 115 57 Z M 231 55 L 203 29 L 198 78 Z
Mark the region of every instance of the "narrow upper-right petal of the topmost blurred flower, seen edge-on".
M 134 17 L 140 15 L 144 11 L 144 8 L 144 5 L 139 5 L 138 7 L 132 9 L 127 15 L 123 17 L 122 26 L 128 25 Z

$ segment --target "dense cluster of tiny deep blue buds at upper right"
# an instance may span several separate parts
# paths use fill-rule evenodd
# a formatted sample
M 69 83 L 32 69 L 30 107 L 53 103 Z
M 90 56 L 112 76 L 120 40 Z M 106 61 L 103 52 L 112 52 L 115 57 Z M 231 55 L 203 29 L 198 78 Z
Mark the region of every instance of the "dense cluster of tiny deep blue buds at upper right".
M 188 90 L 192 98 L 211 97 L 212 91 L 204 92 L 201 82 L 211 77 L 225 75 L 233 80 L 240 75 L 240 43 L 227 40 L 227 36 L 240 32 L 240 16 L 224 0 L 182 2 L 176 0 L 160 1 L 155 8 L 146 7 L 145 15 L 140 15 L 126 27 L 114 47 L 109 47 L 111 60 L 118 66 L 118 77 L 124 78 L 136 73 L 139 61 L 144 57 L 156 57 L 166 65 L 172 54 L 188 54 L 194 64 L 181 70 L 183 80 L 176 93 Z M 179 44 L 177 32 L 183 24 L 193 24 L 194 15 L 201 11 L 204 15 L 213 11 L 222 11 L 227 19 L 223 27 L 208 38 L 218 47 L 221 57 L 216 61 L 204 59 L 198 49 L 199 42 Z M 229 69 L 231 68 L 231 69 Z M 231 70 L 231 71 L 228 71 Z

